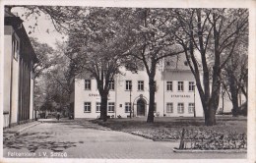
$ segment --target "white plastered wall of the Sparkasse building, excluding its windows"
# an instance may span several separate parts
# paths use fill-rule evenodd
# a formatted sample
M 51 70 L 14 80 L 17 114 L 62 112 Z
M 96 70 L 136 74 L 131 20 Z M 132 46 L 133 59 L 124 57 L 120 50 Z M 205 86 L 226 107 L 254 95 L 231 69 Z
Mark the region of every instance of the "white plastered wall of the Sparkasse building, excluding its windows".
M 109 91 L 108 102 L 115 102 L 115 112 L 107 113 L 109 116 L 127 117 L 130 113 L 125 112 L 125 103 L 130 102 L 130 91 L 125 90 L 125 81 L 132 81 L 133 87 L 131 91 L 131 102 L 133 105 L 134 113 L 132 115 L 137 116 L 137 101 L 140 98 L 146 102 L 146 114 L 149 110 L 149 81 L 148 75 L 145 71 L 139 71 L 138 74 L 126 72 L 122 70 L 125 76 L 118 76 L 115 80 L 115 91 Z M 188 103 L 194 103 L 194 91 L 188 91 L 188 81 L 194 81 L 193 76 L 188 71 L 182 72 L 167 72 L 163 74 L 158 71 L 156 74 L 157 92 L 155 95 L 155 101 L 157 103 L 157 111 L 155 114 L 159 114 L 160 117 L 165 114 L 169 117 L 193 117 L 194 114 L 188 113 Z M 164 78 L 163 78 L 164 77 Z M 144 81 L 144 91 L 138 90 L 138 81 Z M 173 81 L 173 91 L 166 91 L 166 81 Z M 184 81 L 184 91 L 178 92 L 177 81 Z M 163 84 L 164 83 L 164 84 Z M 96 113 L 96 102 L 100 102 L 100 96 L 96 89 L 96 80 L 92 79 L 92 90 L 85 90 L 85 81 L 76 79 L 75 81 L 75 118 L 96 118 L 99 113 Z M 182 95 L 182 96 L 181 96 Z M 203 117 L 203 109 L 199 94 L 195 91 L 196 101 L 196 114 L 198 117 Z M 84 102 L 92 102 L 91 113 L 84 113 Z M 166 102 L 173 103 L 173 113 L 166 114 Z M 184 113 L 177 113 L 177 103 L 184 103 Z M 157 116 L 157 115 L 156 115 Z

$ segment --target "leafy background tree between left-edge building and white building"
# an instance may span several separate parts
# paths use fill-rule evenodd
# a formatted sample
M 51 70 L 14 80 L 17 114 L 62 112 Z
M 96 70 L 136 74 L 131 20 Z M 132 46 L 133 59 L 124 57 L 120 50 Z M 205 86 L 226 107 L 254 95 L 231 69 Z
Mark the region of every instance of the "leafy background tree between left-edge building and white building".
M 39 62 L 34 65 L 34 103 L 36 109 L 42 105 L 61 110 L 68 106 L 72 92 L 70 77 L 67 75 L 69 60 L 64 55 L 65 45 L 57 43 L 53 50 L 46 43 L 32 39 L 32 46 Z M 71 70 L 72 71 L 72 70 Z M 47 105 L 46 105 L 47 104 Z M 44 109 L 45 110 L 45 109 Z

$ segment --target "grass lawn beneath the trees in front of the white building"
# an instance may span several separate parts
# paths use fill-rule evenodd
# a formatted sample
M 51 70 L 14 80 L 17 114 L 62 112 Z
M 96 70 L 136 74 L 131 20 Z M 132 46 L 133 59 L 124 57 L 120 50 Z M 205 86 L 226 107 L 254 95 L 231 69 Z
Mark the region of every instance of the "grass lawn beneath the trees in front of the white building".
M 146 123 L 145 118 L 125 118 L 125 119 L 109 119 L 107 122 L 93 120 L 93 123 L 110 128 L 113 131 L 145 136 L 151 139 L 161 139 L 168 137 L 169 139 L 179 139 L 181 131 L 203 131 L 214 132 L 219 134 L 246 134 L 247 118 L 217 116 L 217 125 L 206 127 L 204 118 L 185 118 L 185 117 L 155 117 L 153 124 Z M 188 134 L 189 135 L 189 134 Z

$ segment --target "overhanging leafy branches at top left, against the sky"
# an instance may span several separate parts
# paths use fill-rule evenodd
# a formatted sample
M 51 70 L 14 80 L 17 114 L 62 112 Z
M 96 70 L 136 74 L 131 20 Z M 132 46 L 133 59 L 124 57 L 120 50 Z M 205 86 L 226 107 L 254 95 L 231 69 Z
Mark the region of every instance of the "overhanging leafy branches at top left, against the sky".
M 34 24 L 30 26 L 29 33 L 32 33 L 38 26 L 38 18 L 45 15 L 52 22 L 55 29 L 62 33 L 68 33 L 87 15 L 90 8 L 80 6 L 36 6 L 36 5 L 7 5 L 6 10 L 11 11 L 14 8 L 24 9 L 21 15 L 25 20 L 34 20 Z M 49 31 L 47 31 L 49 32 Z

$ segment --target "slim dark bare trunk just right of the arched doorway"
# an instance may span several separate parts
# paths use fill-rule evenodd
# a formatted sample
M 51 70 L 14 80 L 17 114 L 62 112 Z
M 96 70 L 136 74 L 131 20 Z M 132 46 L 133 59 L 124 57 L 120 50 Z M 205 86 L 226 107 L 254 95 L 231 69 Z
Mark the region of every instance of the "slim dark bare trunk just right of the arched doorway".
M 149 78 L 149 84 L 150 84 L 150 106 L 149 106 L 149 114 L 147 123 L 154 123 L 154 107 L 155 107 L 155 83 L 154 78 Z

